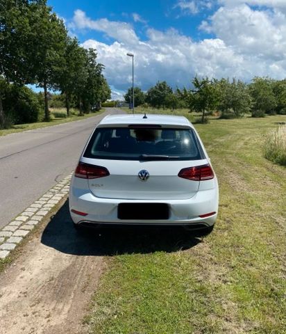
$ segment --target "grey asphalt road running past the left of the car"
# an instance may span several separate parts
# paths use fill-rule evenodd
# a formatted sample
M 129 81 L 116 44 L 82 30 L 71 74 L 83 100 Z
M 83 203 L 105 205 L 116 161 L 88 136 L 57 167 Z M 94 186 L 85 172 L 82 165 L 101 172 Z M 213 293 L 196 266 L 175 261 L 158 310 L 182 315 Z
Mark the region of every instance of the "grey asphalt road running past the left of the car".
M 0 228 L 72 173 L 92 129 L 111 113 L 122 111 L 0 137 Z

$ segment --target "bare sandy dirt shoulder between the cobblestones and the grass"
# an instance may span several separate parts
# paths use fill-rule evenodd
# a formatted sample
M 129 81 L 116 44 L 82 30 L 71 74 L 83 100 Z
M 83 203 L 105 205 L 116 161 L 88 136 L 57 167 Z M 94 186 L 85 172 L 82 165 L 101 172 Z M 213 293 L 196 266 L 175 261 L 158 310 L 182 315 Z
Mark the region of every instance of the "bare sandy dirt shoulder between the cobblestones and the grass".
M 83 317 L 103 270 L 93 234 L 78 234 L 67 201 L 0 274 L 2 334 L 86 333 Z M 98 253 L 98 254 L 96 254 Z

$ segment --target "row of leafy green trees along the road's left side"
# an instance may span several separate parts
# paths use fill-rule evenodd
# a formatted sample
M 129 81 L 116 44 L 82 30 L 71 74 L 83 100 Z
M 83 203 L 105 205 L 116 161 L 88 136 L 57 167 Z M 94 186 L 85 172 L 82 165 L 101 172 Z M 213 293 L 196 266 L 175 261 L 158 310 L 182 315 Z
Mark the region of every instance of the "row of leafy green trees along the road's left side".
M 67 109 L 74 96 L 81 110 L 98 108 L 110 97 L 96 52 L 69 38 L 64 22 L 47 0 L 0 1 L 0 58 L 0 127 L 6 98 L 3 88 L 11 82 L 44 88 L 45 120 L 49 120 L 49 89 L 65 93 Z

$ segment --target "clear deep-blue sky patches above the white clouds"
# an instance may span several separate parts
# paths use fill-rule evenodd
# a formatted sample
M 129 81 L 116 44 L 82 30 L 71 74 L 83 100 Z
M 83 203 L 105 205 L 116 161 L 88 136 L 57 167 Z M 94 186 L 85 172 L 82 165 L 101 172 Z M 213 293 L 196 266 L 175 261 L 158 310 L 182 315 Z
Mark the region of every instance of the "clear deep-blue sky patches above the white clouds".
M 209 1 L 212 3 L 213 1 Z M 146 0 L 146 1 L 117 1 L 117 0 L 96 0 L 96 1 L 56 1 L 49 0 L 49 5 L 61 17 L 72 19 L 74 11 L 77 9 L 83 10 L 92 19 L 107 18 L 110 21 L 129 22 L 133 24 L 137 35 L 144 40 L 146 38 L 145 30 L 147 26 L 153 29 L 165 31 L 170 27 L 178 29 L 184 35 L 188 35 L 194 39 L 201 39 L 209 36 L 203 31 L 198 31 L 197 27 L 201 24 L 202 19 L 206 19 L 212 9 L 203 8 L 203 10 L 196 15 L 187 15 L 188 10 L 181 10 L 176 7 L 178 1 L 174 0 Z M 135 22 L 133 14 L 140 15 L 142 21 Z M 96 31 L 85 31 L 85 33 L 78 33 L 80 40 L 87 38 L 96 38 L 103 42 L 110 42 L 110 39 L 104 38 L 103 34 L 96 33 Z

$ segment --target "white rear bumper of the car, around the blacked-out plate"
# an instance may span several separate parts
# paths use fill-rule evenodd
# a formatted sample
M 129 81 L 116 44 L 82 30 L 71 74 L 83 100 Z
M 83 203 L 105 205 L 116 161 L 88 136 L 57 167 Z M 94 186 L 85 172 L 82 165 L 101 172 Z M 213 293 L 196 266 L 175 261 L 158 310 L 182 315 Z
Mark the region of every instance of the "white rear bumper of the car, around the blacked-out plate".
M 119 224 L 119 225 L 214 225 L 217 218 L 218 189 L 198 191 L 187 200 L 121 200 L 96 198 L 86 189 L 71 187 L 69 193 L 69 212 L 76 224 Z M 117 218 L 119 203 L 166 203 L 169 206 L 169 219 L 166 220 L 123 220 Z M 86 216 L 74 214 L 71 210 L 84 212 Z M 201 218 L 200 215 L 216 212 L 212 216 Z

